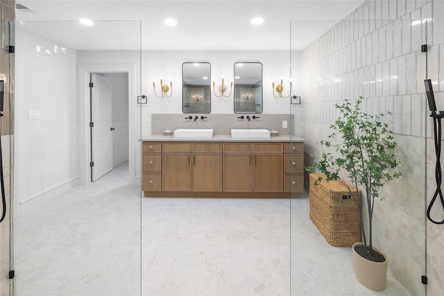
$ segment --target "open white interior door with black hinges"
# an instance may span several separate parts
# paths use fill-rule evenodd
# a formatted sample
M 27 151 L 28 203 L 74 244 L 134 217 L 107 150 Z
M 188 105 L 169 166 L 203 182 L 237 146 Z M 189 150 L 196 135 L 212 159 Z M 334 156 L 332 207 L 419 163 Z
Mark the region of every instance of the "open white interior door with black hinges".
M 112 89 L 110 78 L 91 74 L 92 181 L 112 170 Z

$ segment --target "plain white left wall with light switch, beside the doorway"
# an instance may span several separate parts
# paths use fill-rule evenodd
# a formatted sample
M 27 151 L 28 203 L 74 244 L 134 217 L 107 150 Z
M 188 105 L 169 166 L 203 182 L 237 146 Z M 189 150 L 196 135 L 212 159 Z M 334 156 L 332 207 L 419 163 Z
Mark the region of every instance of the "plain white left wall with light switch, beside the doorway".
M 16 31 L 15 209 L 70 188 L 78 178 L 76 51 Z M 29 119 L 29 112 L 38 119 Z M 37 197 L 40 197 L 36 199 Z

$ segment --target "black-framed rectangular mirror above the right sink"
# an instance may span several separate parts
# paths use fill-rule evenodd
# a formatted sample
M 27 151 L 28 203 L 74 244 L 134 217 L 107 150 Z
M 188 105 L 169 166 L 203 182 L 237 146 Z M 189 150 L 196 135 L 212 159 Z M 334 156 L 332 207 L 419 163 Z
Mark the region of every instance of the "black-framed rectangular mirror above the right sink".
M 262 63 L 234 63 L 234 113 L 262 113 Z

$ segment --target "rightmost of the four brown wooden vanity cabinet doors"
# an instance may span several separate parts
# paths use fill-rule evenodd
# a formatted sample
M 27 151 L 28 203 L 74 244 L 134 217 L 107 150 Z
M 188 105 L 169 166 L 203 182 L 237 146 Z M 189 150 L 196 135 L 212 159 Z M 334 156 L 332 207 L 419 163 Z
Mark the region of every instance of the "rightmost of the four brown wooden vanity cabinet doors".
M 254 191 L 282 192 L 282 154 L 254 156 Z

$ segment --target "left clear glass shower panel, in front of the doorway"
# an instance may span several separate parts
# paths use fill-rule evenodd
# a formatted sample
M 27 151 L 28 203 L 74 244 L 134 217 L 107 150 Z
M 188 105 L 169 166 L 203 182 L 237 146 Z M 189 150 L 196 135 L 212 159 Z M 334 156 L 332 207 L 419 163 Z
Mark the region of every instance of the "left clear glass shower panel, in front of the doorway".
M 140 44 L 139 21 L 16 23 L 19 296 L 140 295 Z

